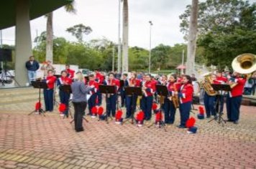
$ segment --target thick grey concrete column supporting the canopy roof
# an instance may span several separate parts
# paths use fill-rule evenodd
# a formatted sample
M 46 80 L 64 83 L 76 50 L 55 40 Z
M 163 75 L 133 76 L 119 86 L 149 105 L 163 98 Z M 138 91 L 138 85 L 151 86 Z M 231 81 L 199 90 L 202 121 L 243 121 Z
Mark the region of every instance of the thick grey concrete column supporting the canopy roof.
M 29 0 L 16 0 L 15 79 L 20 87 L 28 82 L 25 62 L 32 55 L 29 20 Z

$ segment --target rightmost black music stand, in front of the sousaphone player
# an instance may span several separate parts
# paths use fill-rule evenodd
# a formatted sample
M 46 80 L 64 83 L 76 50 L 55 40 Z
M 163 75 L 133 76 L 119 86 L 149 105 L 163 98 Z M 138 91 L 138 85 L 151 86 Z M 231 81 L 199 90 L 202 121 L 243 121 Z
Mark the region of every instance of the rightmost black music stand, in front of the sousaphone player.
M 220 91 L 221 93 L 223 91 L 230 91 L 230 85 L 229 84 L 211 84 L 211 87 L 214 88 L 215 91 Z M 219 104 L 219 97 L 217 97 L 216 99 L 216 104 Z M 216 107 L 216 105 L 215 105 Z M 209 122 L 215 120 L 216 122 L 218 122 L 219 124 L 221 123 L 222 126 L 224 127 L 224 123 L 226 123 L 226 120 L 223 119 L 222 115 L 223 112 L 217 112 L 218 115 L 216 115 L 216 117 L 214 117 L 214 119 L 210 120 Z

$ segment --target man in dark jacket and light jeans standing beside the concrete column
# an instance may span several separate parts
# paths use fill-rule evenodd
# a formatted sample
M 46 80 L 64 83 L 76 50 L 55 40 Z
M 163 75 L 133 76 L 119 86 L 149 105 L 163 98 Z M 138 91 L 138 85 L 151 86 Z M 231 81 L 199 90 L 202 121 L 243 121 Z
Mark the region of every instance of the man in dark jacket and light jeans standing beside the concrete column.
M 37 69 L 39 69 L 39 64 L 34 56 L 29 57 L 29 61 L 26 62 L 26 68 L 29 84 L 31 84 L 31 81 L 35 81 L 35 78 L 37 77 Z

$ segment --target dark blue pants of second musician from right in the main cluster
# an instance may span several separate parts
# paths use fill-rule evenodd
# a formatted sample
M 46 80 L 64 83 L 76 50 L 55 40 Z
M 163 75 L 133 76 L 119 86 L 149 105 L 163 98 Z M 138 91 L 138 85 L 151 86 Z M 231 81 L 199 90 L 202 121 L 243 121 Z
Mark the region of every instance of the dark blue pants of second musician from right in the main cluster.
M 176 112 L 176 109 L 173 105 L 173 101 L 165 99 L 165 102 L 163 104 L 163 110 L 165 112 L 165 123 L 173 124 L 175 120 L 175 112 Z

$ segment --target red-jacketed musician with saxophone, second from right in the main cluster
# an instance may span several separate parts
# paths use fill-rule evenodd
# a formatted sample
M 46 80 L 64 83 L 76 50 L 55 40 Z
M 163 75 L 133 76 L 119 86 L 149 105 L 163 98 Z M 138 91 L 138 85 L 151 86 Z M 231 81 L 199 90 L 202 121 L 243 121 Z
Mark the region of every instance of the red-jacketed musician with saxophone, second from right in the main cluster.
M 176 107 L 173 104 L 174 92 L 177 92 L 180 88 L 180 83 L 176 82 L 177 75 L 170 74 L 168 79 L 167 88 L 170 97 L 165 98 L 163 109 L 165 111 L 165 124 L 173 124 L 175 120 Z

